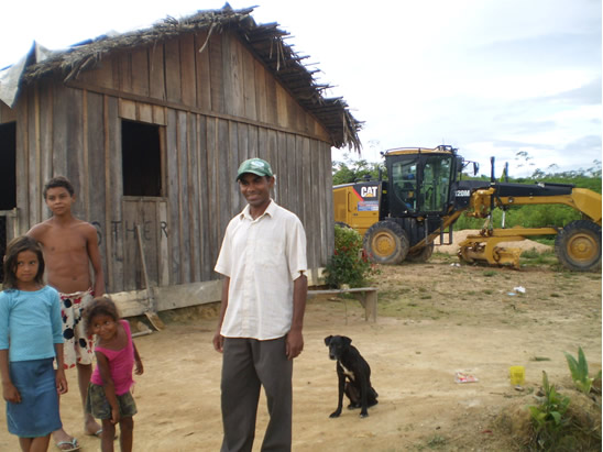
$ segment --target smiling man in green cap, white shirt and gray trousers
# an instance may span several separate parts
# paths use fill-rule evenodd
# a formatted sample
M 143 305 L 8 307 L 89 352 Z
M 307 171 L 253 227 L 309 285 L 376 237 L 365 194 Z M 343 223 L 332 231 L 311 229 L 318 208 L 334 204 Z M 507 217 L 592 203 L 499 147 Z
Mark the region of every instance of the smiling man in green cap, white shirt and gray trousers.
M 216 272 L 224 276 L 213 348 L 222 353 L 222 452 L 251 451 L 261 387 L 270 422 L 262 451 L 290 451 L 293 359 L 304 349 L 308 282 L 299 219 L 270 197 L 270 164 L 250 158 L 237 181 L 248 206 L 227 227 Z

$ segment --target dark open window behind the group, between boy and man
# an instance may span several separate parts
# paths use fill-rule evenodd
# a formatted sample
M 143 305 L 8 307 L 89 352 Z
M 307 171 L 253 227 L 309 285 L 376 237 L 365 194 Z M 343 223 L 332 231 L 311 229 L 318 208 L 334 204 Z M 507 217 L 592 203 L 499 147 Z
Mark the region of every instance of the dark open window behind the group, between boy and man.
M 163 196 L 160 126 L 121 121 L 124 196 Z

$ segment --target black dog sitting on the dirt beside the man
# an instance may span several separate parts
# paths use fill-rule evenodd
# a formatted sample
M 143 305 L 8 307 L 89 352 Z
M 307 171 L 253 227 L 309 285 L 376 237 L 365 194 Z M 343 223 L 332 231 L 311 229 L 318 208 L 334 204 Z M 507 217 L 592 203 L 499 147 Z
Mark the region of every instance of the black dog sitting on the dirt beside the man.
M 352 340 L 344 335 L 325 338 L 325 345 L 329 348 L 329 357 L 337 360 L 337 376 L 339 378 L 339 403 L 337 409 L 331 414 L 331 418 L 341 415 L 343 393 L 350 399 L 348 408 L 361 408 L 361 418 L 369 416 L 368 408 L 377 404 L 379 394 L 371 386 L 371 367 L 351 343 Z

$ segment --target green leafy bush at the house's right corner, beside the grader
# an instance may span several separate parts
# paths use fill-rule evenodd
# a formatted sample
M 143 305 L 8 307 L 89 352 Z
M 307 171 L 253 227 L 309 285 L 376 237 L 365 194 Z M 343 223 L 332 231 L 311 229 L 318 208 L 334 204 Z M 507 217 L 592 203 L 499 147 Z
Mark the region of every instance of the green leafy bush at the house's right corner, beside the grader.
M 336 225 L 335 253 L 325 268 L 325 283 L 330 287 L 363 287 L 375 273 L 358 231 Z

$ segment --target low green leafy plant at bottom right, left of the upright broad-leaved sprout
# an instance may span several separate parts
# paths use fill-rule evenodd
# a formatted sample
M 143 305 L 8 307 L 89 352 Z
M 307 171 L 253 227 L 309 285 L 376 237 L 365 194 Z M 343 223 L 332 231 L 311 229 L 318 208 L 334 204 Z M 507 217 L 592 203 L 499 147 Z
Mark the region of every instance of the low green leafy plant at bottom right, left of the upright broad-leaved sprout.
M 529 414 L 535 430 L 536 448 L 551 450 L 561 438 L 563 428 L 569 420 L 564 417 L 570 398 L 563 396 L 549 384 L 547 373 L 542 371 L 542 403 L 538 406 L 529 406 Z

